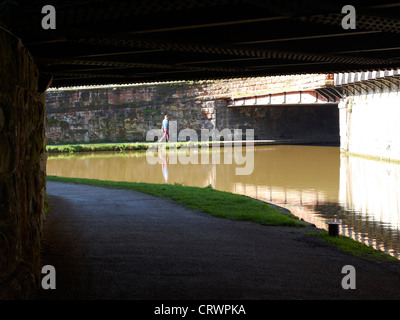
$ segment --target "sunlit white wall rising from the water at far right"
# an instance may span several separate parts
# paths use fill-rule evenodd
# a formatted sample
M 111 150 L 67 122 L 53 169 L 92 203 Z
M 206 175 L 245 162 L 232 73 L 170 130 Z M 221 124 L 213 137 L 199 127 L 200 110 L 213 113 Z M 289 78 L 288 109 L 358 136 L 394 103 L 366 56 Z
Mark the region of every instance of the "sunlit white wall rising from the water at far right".
M 349 95 L 339 104 L 345 152 L 400 160 L 400 90 Z

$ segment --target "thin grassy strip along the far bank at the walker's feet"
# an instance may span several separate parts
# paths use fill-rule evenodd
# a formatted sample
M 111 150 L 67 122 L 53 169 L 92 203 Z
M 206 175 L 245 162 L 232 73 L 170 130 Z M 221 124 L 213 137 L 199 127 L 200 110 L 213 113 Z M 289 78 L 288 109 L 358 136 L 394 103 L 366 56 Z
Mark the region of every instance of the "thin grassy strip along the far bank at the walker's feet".
M 190 146 L 209 146 L 214 143 L 210 142 L 161 142 L 167 149 L 183 148 Z M 68 144 L 68 145 L 47 145 L 48 153 L 74 153 L 74 152 L 96 152 L 96 151 L 133 151 L 147 150 L 149 147 L 156 145 L 154 142 L 133 142 L 133 143 L 96 143 L 96 144 Z

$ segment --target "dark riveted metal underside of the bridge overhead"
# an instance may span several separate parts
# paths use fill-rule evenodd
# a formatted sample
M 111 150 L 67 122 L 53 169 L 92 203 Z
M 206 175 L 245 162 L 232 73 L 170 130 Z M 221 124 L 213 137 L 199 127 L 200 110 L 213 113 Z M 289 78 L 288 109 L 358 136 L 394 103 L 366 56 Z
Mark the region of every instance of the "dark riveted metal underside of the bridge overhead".
M 352 1 L 356 29 L 328 0 L 6 1 L 3 22 L 33 55 L 43 85 L 141 83 L 400 67 L 400 4 Z

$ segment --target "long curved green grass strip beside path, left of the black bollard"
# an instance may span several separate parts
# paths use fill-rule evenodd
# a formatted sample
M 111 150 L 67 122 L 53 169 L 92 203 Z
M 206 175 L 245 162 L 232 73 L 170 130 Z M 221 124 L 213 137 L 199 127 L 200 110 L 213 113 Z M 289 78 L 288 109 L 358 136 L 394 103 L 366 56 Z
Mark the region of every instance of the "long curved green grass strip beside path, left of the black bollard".
M 246 196 L 215 190 L 211 187 L 188 187 L 179 184 L 153 184 L 118 182 L 81 178 L 48 176 L 49 181 L 80 183 L 93 186 L 139 191 L 171 199 L 194 210 L 210 215 L 242 221 L 252 221 L 269 226 L 304 226 L 296 216 L 281 213 L 278 209 Z

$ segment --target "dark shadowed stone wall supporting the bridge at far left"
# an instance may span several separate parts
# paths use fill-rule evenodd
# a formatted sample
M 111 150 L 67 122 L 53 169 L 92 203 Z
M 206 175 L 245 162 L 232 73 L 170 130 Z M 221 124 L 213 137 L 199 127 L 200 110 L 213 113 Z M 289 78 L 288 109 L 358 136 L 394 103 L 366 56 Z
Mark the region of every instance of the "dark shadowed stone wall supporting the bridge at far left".
M 41 270 L 45 97 L 21 41 L 0 28 L 0 47 L 0 300 L 25 299 Z

